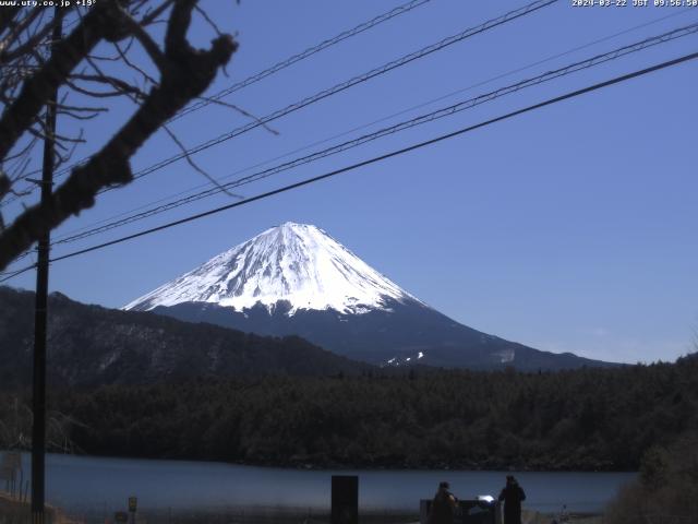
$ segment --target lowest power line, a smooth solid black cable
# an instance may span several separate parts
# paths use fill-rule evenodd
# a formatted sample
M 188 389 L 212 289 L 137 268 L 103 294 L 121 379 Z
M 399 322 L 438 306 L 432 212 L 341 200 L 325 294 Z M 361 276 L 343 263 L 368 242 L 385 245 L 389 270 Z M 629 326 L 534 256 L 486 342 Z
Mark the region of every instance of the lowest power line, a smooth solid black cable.
M 646 74 L 662 70 L 662 69 L 666 69 L 666 68 L 670 68 L 670 67 L 673 67 L 673 66 L 677 66 L 679 63 L 683 63 L 683 62 L 686 62 L 686 61 L 689 61 L 689 60 L 694 60 L 696 58 L 698 58 L 698 52 L 684 55 L 683 57 L 675 58 L 673 60 L 667 60 L 667 61 L 651 66 L 649 68 L 645 68 L 645 69 L 641 69 L 641 70 L 634 71 L 631 73 L 623 74 L 621 76 L 615 76 L 615 78 L 613 78 L 611 80 L 606 80 L 604 82 L 600 82 L 600 83 L 597 83 L 597 84 L 593 84 L 593 85 L 590 85 L 590 86 L 587 86 L 587 87 L 582 87 L 580 90 L 576 90 L 576 91 L 566 93 L 564 95 L 556 96 L 554 98 L 549 98 L 549 99 L 546 99 L 544 102 L 541 102 L 541 103 L 538 103 L 538 104 L 533 104 L 531 106 L 527 106 L 527 107 L 525 107 L 522 109 L 518 109 L 518 110 L 515 110 L 515 111 L 512 111 L 512 112 L 507 112 L 506 115 L 502 115 L 500 117 L 495 117 L 495 118 L 482 121 L 482 122 L 473 124 L 473 126 L 461 128 L 461 129 L 459 129 L 457 131 L 453 131 L 450 133 L 442 134 L 440 136 L 426 140 L 424 142 L 419 142 L 417 144 L 412 144 L 412 145 L 409 145 L 407 147 L 402 147 L 400 150 L 392 151 L 390 153 L 385 153 L 385 154 L 380 155 L 380 156 L 374 156 L 374 157 L 369 158 L 366 160 L 362 160 L 362 162 L 359 162 L 357 164 L 352 164 L 350 166 L 342 167 L 340 169 L 335 169 L 333 171 L 329 171 L 329 172 L 326 172 L 324 175 L 320 175 L 320 176 L 316 176 L 316 177 L 312 177 L 312 178 L 302 180 L 300 182 L 291 183 L 289 186 L 285 186 L 285 187 L 279 188 L 279 189 L 275 189 L 273 191 L 267 191 L 265 193 L 262 193 L 262 194 L 258 194 L 256 196 L 252 196 L 252 198 L 245 199 L 245 200 L 240 201 L 240 202 L 234 202 L 234 203 L 231 203 L 231 204 L 227 204 L 227 205 L 224 205 L 224 206 L 220 206 L 220 207 L 216 207 L 214 210 L 206 211 L 204 213 L 197 213 L 195 215 L 191 215 L 191 216 L 188 216 L 185 218 L 180 218 L 178 221 L 170 222 L 168 224 L 164 224 L 161 226 L 153 227 L 153 228 L 140 231 L 140 233 L 135 233 L 133 235 L 128 235 L 128 236 L 118 238 L 116 240 L 110 240 L 108 242 L 103 242 L 103 243 L 99 243 L 97 246 L 92 246 L 89 248 L 81 249 L 79 251 L 73 251 L 71 253 L 63 254 L 61 257 L 57 257 L 55 259 L 51 259 L 51 262 L 58 262 L 60 260 L 65 260 L 65 259 L 70 259 L 70 258 L 73 258 L 73 257 L 77 257 L 80 254 L 85 254 L 85 253 L 88 253 L 88 252 L 92 252 L 92 251 L 104 249 L 104 248 L 109 247 L 109 246 L 115 246 L 117 243 L 122 243 L 122 242 L 125 242 L 128 240 L 132 240 L 132 239 L 135 239 L 135 238 L 140 238 L 140 237 L 143 237 L 143 236 L 146 236 L 146 235 L 151 235 L 151 234 L 157 233 L 157 231 L 169 229 L 170 227 L 174 227 L 174 226 L 179 226 L 181 224 L 186 224 L 189 222 L 197 221 L 200 218 L 204 218 L 204 217 L 209 216 L 209 215 L 221 213 L 224 211 L 231 210 L 233 207 L 238 207 L 238 206 L 241 206 L 241 205 L 250 204 L 252 202 L 256 202 L 257 200 L 263 200 L 263 199 L 266 199 L 266 198 L 269 198 L 269 196 L 274 196 L 274 195 L 279 194 L 279 193 L 284 193 L 284 192 L 290 191 L 292 189 L 298 189 L 298 188 L 301 188 L 303 186 L 308 186 L 308 184 L 311 184 L 311 183 L 314 183 L 314 182 L 318 182 L 321 180 L 325 180 L 325 179 L 330 178 L 330 177 L 335 177 L 335 176 L 344 174 L 344 172 L 352 171 L 352 170 L 358 169 L 360 167 L 364 167 L 364 166 L 368 166 L 368 165 L 371 165 L 371 164 L 375 164 L 375 163 L 385 160 L 387 158 L 392 158 L 392 157 L 395 157 L 395 156 L 402 155 L 405 153 L 409 153 L 409 152 L 414 151 L 414 150 L 419 150 L 419 148 L 422 148 L 422 147 L 425 147 L 425 146 L 429 146 L 429 145 L 433 145 L 433 144 L 436 144 L 438 142 L 442 142 L 442 141 L 445 141 L 445 140 L 448 140 L 448 139 L 453 139 L 455 136 L 459 136 L 461 134 L 474 131 L 477 129 L 481 129 L 481 128 L 491 126 L 493 123 L 501 122 L 503 120 L 508 120 L 508 119 L 517 117 L 519 115 L 524 115 L 524 114 L 527 114 L 527 112 L 530 112 L 530 111 L 533 111 L 533 110 L 537 110 L 537 109 L 541 109 L 543 107 L 551 106 L 553 104 L 557 104 L 559 102 L 567 100 L 567 99 L 570 99 L 570 98 L 575 98 L 577 96 L 581 96 L 581 95 L 587 94 L 587 93 L 599 91 L 601 88 L 609 87 L 609 86 L 614 85 L 614 84 L 626 82 L 628 80 L 631 80 L 631 79 L 635 79 L 635 78 L 638 78 L 638 76 L 642 76 L 642 75 L 646 75 Z M 27 271 L 27 269 L 25 269 L 23 271 Z

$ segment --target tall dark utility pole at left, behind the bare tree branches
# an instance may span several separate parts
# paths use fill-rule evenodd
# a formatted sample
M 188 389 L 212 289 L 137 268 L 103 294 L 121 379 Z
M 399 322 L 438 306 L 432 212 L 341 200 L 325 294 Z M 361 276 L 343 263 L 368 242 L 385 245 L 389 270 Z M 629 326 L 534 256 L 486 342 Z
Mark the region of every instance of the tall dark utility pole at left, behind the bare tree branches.
M 53 11 L 55 25 L 51 41 L 51 57 L 61 39 L 63 17 L 60 8 Z M 56 162 L 56 106 L 58 87 L 46 102 L 46 136 L 44 138 L 44 166 L 41 174 L 41 206 L 49 205 L 53 186 L 53 164 Z M 44 524 L 46 496 L 46 324 L 48 306 L 48 259 L 51 243 L 50 229 L 38 241 L 36 266 L 36 309 L 34 313 L 34 383 L 32 408 L 32 522 Z

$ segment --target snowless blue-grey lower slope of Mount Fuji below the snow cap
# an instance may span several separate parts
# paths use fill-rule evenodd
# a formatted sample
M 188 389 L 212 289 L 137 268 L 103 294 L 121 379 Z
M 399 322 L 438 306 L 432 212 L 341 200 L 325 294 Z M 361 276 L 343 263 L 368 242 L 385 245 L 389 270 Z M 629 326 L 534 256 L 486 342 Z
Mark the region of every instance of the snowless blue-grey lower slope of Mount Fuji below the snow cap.
M 380 367 L 424 365 L 483 371 L 514 367 L 530 372 L 617 366 L 570 353 L 534 349 L 473 330 L 414 303 L 399 308 L 393 305 L 392 311 L 377 310 L 360 315 L 298 311 L 288 317 L 284 308 L 285 305 L 279 303 L 272 312 L 261 307 L 239 312 L 213 303 L 184 302 L 158 307 L 153 312 L 268 336 L 293 333 L 337 355 Z

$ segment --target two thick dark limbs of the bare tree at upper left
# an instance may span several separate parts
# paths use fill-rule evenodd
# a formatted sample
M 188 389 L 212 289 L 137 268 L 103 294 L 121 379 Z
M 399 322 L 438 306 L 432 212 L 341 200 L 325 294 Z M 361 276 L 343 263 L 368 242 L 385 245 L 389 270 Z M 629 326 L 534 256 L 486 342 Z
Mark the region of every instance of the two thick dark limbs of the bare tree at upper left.
M 116 2 L 115 2 L 116 3 Z M 0 271 L 41 235 L 60 225 L 72 215 L 92 207 L 97 192 L 110 186 L 120 186 L 133 179 L 130 159 L 145 141 L 192 98 L 201 96 L 225 66 L 237 44 L 229 35 L 212 41 L 207 50 L 191 47 L 186 32 L 195 0 L 172 2 L 165 36 L 159 84 L 143 99 L 137 110 L 116 134 L 93 155 L 75 167 L 70 177 L 48 199 L 47 205 L 26 209 L 0 234 Z M 27 131 L 38 115 L 51 88 L 70 85 L 70 74 L 100 39 L 117 41 L 133 28 L 118 10 L 101 8 L 113 5 L 101 2 L 93 9 L 70 35 L 58 45 L 58 50 L 32 79 L 0 119 L 0 157 L 7 156 L 21 134 Z M 117 22 L 115 22 L 115 20 Z M 108 27 L 107 27 L 108 26 Z

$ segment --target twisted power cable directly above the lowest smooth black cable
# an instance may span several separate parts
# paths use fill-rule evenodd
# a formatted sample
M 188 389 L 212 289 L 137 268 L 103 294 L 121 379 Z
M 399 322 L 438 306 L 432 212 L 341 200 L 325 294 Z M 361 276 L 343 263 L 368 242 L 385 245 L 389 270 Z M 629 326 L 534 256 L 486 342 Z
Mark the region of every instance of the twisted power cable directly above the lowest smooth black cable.
M 278 172 L 286 171 L 288 169 L 292 169 L 292 168 L 301 166 L 301 165 L 310 164 L 311 162 L 315 162 L 317 159 L 325 158 L 327 156 L 330 156 L 330 155 L 334 155 L 334 154 L 337 154 L 337 153 L 341 153 L 344 151 L 347 151 L 347 150 L 363 145 L 363 144 L 365 144 L 368 142 L 372 142 L 372 141 L 377 140 L 380 138 L 386 136 L 388 134 L 394 134 L 394 133 L 397 133 L 399 131 L 404 131 L 406 129 L 410 129 L 410 128 L 413 128 L 413 127 L 417 127 L 417 126 L 421 126 L 423 123 L 428 123 L 428 122 L 431 122 L 431 121 L 434 121 L 434 120 L 437 120 L 437 119 L 441 119 L 441 118 L 445 118 L 445 117 L 455 115 L 457 112 L 460 112 L 460 111 L 464 111 L 464 110 L 467 110 L 467 109 L 471 109 L 471 108 L 473 108 L 476 106 L 479 106 L 481 104 L 484 104 L 484 103 L 488 103 L 488 102 L 492 102 L 492 100 L 494 100 L 496 98 L 500 98 L 502 96 L 509 95 L 509 94 L 513 94 L 513 93 L 517 93 L 518 91 L 521 91 L 524 88 L 531 87 L 531 86 L 534 86 L 534 85 L 539 85 L 539 84 L 542 84 L 544 82 L 550 82 L 550 81 L 558 79 L 561 76 L 565 76 L 567 74 L 571 74 L 571 73 L 585 70 L 585 69 L 597 67 L 597 66 L 600 66 L 602 63 L 606 63 L 609 61 L 616 60 L 616 59 L 618 59 L 621 57 L 624 57 L 624 56 L 627 56 L 629 53 L 638 52 L 638 51 L 647 49 L 649 47 L 657 46 L 657 45 L 660 45 L 660 44 L 664 44 L 664 43 L 667 43 L 667 41 L 672 41 L 672 40 L 675 40 L 677 38 L 682 38 L 684 36 L 688 36 L 688 35 L 695 34 L 695 33 L 698 33 L 698 23 L 691 24 L 691 25 L 686 26 L 686 27 L 679 27 L 679 28 L 670 31 L 667 33 L 664 33 L 664 34 L 661 34 L 661 35 L 658 35 L 658 36 L 645 38 L 643 40 L 639 40 L 639 41 L 636 41 L 634 44 L 626 45 L 626 46 L 619 47 L 617 49 L 614 49 L 612 51 L 607 51 L 607 52 L 604 52 L 604 53 L 601 53 L 601 55 L 595 55 L 595 56 L 593 56 L 591 58 L 588 58 L 586 60 L 577 61 L 577 62 L 570 63 L 568 66 L 565 66 L 563 68 L 558 68 L 558 69 L 553 70 L 553 71 L 547 71 L 547 72 L 545 72 L 543 74 L 540 74 L 538 76 L 533 76 L 533 78 L 526 79 L 526 80 L 522 80 L 520 82 L 517 82 L 515 84 L 510 84 L 510 85 L 507 85 L 507 86 L 504 86 L 504 87 L 500 87 L 500 88 L 497 88 L 495 91 L 479 95 L 479 96 L 473 97 L 473 98 L 469 98 L 469 99 L 464 100 L 464 102 L 459 102 L 459 103 L 450 105 L 448 107 L 440 108 L 440 109 L 437 109 L 435 111 L 431 111 L 431 112 L 425 114 L 425 115 L 420 115 L 420 116 L 414 117 L 414 118 L 412 118 L 410 120 L 402 121 L 402 122 L 396 123 L 394 126 L 377 130 L 377 131 L 375 131 L 373 133 L 364 134 L 364 135 L 359 136 L 357 139 L 353 139 L 353 140 L 350 140 L 350 141 L 346 141 L 346 142 L 344 142 L 341 144 L 337 144 L 337 145 L 334 145 L 332 147 L 327 147 L 325 150 L 317 151 L 317 152 L 312 153 L 310 155 L 306 155 L 306 156 L 303 156 L 303 157 L 300 157 L 300 158 L 296 158 L 296 159 L 290 160 L 290 162 L 286 162 L 286 163 L 279 164 L 279 165 L 277 165 L 275 167 L 270 167 L 270 168 L 264 169 L 262 171 L 257 171 L 256 174 L 239 178 L 237 180 L 233 180 L 231 182 L 221 184 L 219 187 L 210 188 L 210 189 L 207 189 L 205 191 L 201 191 L 198 193 L 195 193 L 195 194 L 182 198 L 182 199 L 178 199 L 178 200 L 169 202 L 167 204 L 163 204 L 163 205 L 153 207 L 151 210 L 147 210 L 147 211 L 144 211 L 144 212 L 136 213 L 134 215 L 128 216 L 128 217 L 122 218 L 120 221 L 111 222 L 111 223 L 106 224 L 104 226 L 95 227 L 95 228 L 88 229 L 86 231 L 82 231 L 82 233 L 77 233 L 75 235 L 63 237 L 61 239 L 56 240 L 53 242 L 53 245 L 56 246 L 56 245 L 61 245 L 61 243 L 73 242 L 73 241 L 76 241 L 76 240 L 82 240 L 84 238 L 87 238 L 87 237 L 91 237 L 91 236 L 94 236 L 94 235 L 98 235 L 98 234 L 108 231 L 110 229 L 115 229 L 117 227 L 124 226 L 127 224 L 131 224 L 133 222 L 137 222 L 137 221 L 141 221 L 141 219 L 154 216 L 156 214 L 160 214 L 160 213 L 164 213 L 166 211 L 173 210 L 176 207 L 180 207 L 182 205 L 185 205 L 185 204 L 202 200 L 204 198 L 213 196 L 215 194 L 220 193 L 221 191 L 224 191 L 226 189 L 237 188 L 237 187 L 240 187 L 240 186 L 243 186 L 243 184 L 248 184 L 248 183 L 251 183 L 251 182 L 264 179 L 264 178 L 268 178 L 268 177 L 270 177 L 273 175 L 276 175 Z

